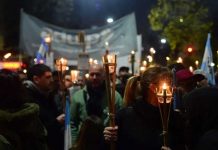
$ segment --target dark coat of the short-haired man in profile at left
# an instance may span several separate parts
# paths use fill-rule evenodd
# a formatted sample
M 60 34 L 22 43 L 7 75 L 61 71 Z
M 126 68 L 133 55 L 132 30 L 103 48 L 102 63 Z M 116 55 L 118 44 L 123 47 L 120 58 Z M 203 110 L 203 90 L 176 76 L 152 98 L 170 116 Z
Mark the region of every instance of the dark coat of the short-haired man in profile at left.
M 53 97 L 39 91 L 31 82 L 26 84 L 27 99 L 39 105 L 39 117 L 48 131 L 48 145 L 51 150 L 64 148 L 64 125 L 56 117 L 59 115 Z

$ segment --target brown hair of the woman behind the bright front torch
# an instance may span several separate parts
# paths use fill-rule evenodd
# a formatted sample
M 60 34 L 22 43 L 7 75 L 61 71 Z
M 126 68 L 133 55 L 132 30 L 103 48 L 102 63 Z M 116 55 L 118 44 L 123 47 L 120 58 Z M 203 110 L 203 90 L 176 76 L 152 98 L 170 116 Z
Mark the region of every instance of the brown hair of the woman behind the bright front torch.
M 140 85 L 143 96 L 147 96 L 149 84 L 160 84 L 160 81 L 171 82 L 172 74 L 167 67 L 148 68 L 141 76 Z

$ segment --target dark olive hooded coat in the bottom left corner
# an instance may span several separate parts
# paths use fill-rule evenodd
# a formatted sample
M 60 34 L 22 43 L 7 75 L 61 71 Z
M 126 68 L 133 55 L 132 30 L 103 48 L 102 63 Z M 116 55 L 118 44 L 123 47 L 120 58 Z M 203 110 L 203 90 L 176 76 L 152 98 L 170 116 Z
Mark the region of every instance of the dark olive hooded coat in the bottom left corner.
M 47 150 L 46 129 L 39 107 L 26 103 L 16 110 L 0 110 L 1 150 Z

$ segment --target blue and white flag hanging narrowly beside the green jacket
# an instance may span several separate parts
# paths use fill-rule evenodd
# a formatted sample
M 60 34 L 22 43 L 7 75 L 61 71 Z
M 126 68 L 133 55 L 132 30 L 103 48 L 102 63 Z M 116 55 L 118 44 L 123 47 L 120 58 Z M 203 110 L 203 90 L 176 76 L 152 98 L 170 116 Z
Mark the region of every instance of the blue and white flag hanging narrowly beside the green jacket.
M 72 147 L 72 137 L 71 137 L 71 128 L 70 128 L 70 98 L 69 96 L 66 96 L 64 150 L 69 150 L 71 147 Z

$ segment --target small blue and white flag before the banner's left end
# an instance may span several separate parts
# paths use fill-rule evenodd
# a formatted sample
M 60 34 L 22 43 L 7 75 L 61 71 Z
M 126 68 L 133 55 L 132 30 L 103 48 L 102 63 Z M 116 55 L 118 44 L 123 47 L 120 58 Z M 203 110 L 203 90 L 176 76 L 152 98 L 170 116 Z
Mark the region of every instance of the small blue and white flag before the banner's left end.
M 48 45 L 45 42 L 45 39 L 43 38 L 39 47 L 39 50 L 36 54 L 36 63 L 41 63 L 41 60 L 45 62 L 45 53 L 48 52 Z

